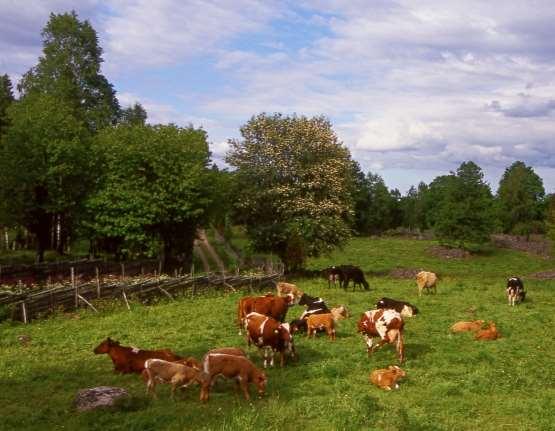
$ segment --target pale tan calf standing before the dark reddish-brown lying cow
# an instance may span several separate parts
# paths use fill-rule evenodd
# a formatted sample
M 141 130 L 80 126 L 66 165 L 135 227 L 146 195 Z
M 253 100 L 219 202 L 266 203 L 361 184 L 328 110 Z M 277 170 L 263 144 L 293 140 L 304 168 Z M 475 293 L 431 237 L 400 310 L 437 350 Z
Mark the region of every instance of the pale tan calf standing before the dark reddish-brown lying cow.
M 147 359 L 143 378 L 147 383 L 147 393 L 156 398 L 156 384 L 168 383 L 172 385 L 172 399 L 178 387 L 187 387 L 193 382 L 202 384 L 202 371 L 177 362 L 162 359 Z

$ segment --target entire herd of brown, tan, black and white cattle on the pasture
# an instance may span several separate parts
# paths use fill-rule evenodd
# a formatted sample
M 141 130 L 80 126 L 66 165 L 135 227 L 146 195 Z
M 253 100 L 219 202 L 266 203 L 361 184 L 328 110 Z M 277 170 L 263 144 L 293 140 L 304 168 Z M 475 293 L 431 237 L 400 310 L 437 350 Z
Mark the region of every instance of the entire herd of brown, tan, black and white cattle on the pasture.
M 330 287 L 339 281 L 339 286 L 346 289 L 352 280 L 353 289 L 356 285 L 369 289 L 360 268 L 352 265 L 331 267 L 324 273 Z M 436 293 L 437 276 L 432 272 L 421 271 L 416 276 L 416 284 L 419 295 L 424 291 Z M 307 338 L 310 338 L 315 337 L 317 332 L 326 332 L 329 339 L 335 341 L 337 322 L 349 317 L 344 305 L 330 309 L 322 298 L 310 296 L 294 284 L 279 282 L 276 290 L 277 295 L 267 293 L 263 296 L 243 297 L 237 305 L 239 334 L 245 330 L 247 345 L 254 345 L 260 350 L 264 368 L 274 366 L 276 355 L 279 355 L 281 367 L 285 366 L 287 358 L 298 360 L 294 334 L 306 332 Z M 522 280 L 518 277 L 509 278 L 506 294 L 511 306 L 523 301 L 526 292 Z M 299 318 L 287 323 L 287 311 L 294 305 L 304 306 L 305 310 Z M 357 323 L 357 332 L 366 341 L 368 355 L 391 344 L 396 350 L 399 363 L 403 363 L 404 318 L 418 313 L 414 305 L 405 301 L 387 297 L 378 300 L 375 308 L 364 312 Z M 484 327 L 484 323 L 483 320 L 457 322 L 451 326 L 451 332 L 474 332 L 476 340 L 496 340 L 500 337 L 494 322 L 489 322 L 487 327 Z M 141 374 L 147 392 L 153 397 L 156 397 L 158 383 L 171 385 L 172 398 L 177 388 L 197 384 L 201 388 L 200 400 L 206 402 L 217 378 L 225 377 L 235 380 L 237 389 L 249 400 L 249 385 L 254 385 L 262 396 L 268 381 L 266 373 L 255 366 L 243 349 L 237 347 L 210 350 L 198 361 L 193 357 L 179 356 L 170 349 L 142 350 L 121 346 L 118 341 L 108 337 L 94 349 L 94 353 L 108 354 L 116 373 Z M 397 389 L 397 380 L 405 375 L 405 371 L 392 365 L 372 371 L 370 382 L 381 389 Z

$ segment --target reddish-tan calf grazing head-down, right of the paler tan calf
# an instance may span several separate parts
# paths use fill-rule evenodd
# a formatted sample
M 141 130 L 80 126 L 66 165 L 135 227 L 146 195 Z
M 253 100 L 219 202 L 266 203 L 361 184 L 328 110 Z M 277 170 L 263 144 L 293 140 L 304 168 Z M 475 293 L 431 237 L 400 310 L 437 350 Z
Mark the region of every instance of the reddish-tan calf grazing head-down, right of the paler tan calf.
M 200 400 L 203 402 L 208 401 L 210 389 L 214 384 L 214 379 L 218 376 L 235 379 L 237 386 L 243 390 L 246 400 L 250 400 L 249 383 L 257 386 L 260 396 L 263 396 L 266 391 L 266 383 L 268 381 L 266 374 L 256 368 L 244 356 L 209 352 L 204 356 L 202 367 L 204 380 L 202 382 Z

